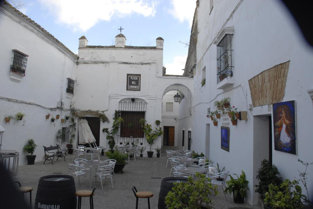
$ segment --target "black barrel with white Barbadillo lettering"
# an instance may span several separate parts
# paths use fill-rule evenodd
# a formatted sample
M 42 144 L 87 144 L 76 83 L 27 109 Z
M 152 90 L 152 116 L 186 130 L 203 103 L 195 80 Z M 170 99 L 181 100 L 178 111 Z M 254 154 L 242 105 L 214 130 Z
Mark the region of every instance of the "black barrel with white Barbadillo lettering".
M 74 177 L 50 175 L 40 177 L 35 209 L 75 209 L 77 200 Z

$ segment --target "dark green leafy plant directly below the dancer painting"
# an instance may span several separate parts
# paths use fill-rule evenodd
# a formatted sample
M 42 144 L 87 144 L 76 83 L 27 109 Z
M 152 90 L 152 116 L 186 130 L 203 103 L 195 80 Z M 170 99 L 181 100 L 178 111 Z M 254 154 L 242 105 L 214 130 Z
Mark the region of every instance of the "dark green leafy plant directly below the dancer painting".
M 256 179 L 259 181 L 259 184 L 254 185 L 256 187 L 255 192 L 258 192 L 260 198 L 264 200 L 265 193 L 269 191 L 269 185 L 279 186 L 283 182 L 283 179 L 279 177 L 277 166 L 272 165 L 266 159 L 262 160 L 261 167 L 257 173 Z

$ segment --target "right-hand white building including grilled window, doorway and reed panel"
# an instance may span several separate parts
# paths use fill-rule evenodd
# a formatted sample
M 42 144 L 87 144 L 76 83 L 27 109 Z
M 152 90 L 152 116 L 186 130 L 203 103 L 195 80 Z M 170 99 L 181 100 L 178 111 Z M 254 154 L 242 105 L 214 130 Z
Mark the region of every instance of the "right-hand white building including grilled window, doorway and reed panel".
M 246 201 L 255 205 L 258 195 L 253 185 L 258 183 L 261 160 L 272 161 L 288 179 L 299 178 L 298 170 L 304 169 L 298 158 L 312 161 L 313 109 L 308 91 L 313 88 L 313 51 L 280 2 L 197 3 L 192 29 L 192 36 L 198 30 L 196 61 L 188 63 L 193 62 L 189 57 L 185 69 L 186 74 L 194 75 L 191 149 L 205 153 L 231 174 L 243 170 L 249 181 Z M 214 102 L 225 97 L 231 98 L 231 106 L 247 112 L 247 120 L 232 125 L 228 115 L 222 115 L 213 126 L 206 117 L 208 109 L 215 110 Z M 274 143 L 272 104 L 290 100 L 296 103 L 296 154 L 275 150 Z M 221 126 L 229 128 L 228 151 L 221 148 Z M 307 173 L 313 173 L 312 167 L 308 169 Z M 308 188 L 312 195 L 312 181 Z

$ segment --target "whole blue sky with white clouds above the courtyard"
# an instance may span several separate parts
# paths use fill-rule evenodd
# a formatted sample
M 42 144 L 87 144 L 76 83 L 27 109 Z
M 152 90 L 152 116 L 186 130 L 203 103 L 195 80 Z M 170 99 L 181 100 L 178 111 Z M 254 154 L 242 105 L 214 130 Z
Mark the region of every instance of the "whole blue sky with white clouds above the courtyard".
M 88 45 L 113 45 L 120 26 L 126 45 L 155 46 L 161 36 L 167 74 L 183 73 L 188 47 L 179 41 L 189 41 L 196 0 L 15 1 L 23 2 L 20 11 L 74 53 L 83 35 Z

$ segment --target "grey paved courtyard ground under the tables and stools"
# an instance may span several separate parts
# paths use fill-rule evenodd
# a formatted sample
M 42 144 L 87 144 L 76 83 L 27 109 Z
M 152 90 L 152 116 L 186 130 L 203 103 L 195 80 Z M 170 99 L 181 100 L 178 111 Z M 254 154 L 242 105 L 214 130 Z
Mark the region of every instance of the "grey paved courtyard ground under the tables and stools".
M 138 190 L 153 192 L 154 196 L 150 198 L 151 209 L 157 209 L 162 178 L 168 177 L 170 172 L 169 166 L 165 168 L 166 154 L 164 152 L 166 149 L 167 147 L 163 147 L 161 158 L 137 158 L 136 161 L 131 160 L 128 162 L 129 164 L 125 166 L 123 174 L 115 174 L 116 182 L 113 182 L 114 189 L 112 189 L 109 179 L 109 181 L 106 182 L 106 185 L 103 186 L 104 190 L 102 191 L 98 179 L 96 182 L 97 190 L 94 196 L 94 207 L 97 209 L 135 208 L 136 198 L 134 197 L 131 188 L 132 186 L 136 186 Z M 52 165 L 51 162 L 43 164 L 43 162 L 39 161 L 36 162 L 35 165 L 19 166 L 18 175 L 13 176 L 13 178 L 14 180 L 21 182 L 22 186 L 33 187 L 32 202 L 34 204 L 39 178 L 46 175 L 53 175 L 53 173 L 68 175 L 67 163 L 70 163 L 72 157 L 72 155 L 68 155 L 65 162 L 63 159 L 59 159 L 54 162 L 54 165 Z M 105 160 L 107 157 L 102 156 L 102 159 Z M 89 176 L 87 177 L 89 180 Z M 161 177 L 161 179 L 152 179 L 151 177 Z M 78 179 L 76 179 L 76 190 L 83 189 L 91 190 L 90 187 L 86 186 L 85 181 L 79 185 Z M 230 196 L 228 196 L 228 201 L 226 201 L 222 192 L 222 189 L 219 188 L 220 195 L 218 197 L 213 197 L 213 208 L 259 208 L 256 206 L 252 207 L 247 203 L 235 204 L 233 203 L 233 198 Z M 25 197 L 29 198 L 29 195 L 26 195 Z M 138 208 L 140 209 L 148 208 L 146 199 L 139 199 L 138 205 Z M 82 208 L 89 208 L 89 198 L 82 198 Z

